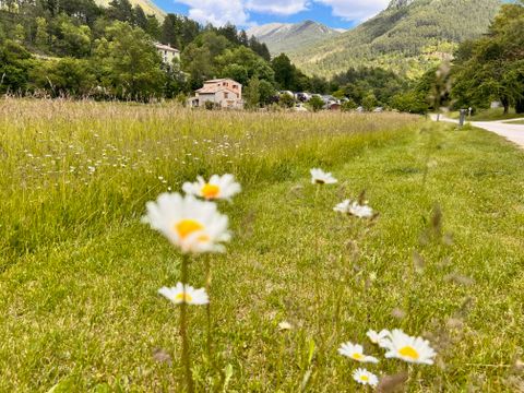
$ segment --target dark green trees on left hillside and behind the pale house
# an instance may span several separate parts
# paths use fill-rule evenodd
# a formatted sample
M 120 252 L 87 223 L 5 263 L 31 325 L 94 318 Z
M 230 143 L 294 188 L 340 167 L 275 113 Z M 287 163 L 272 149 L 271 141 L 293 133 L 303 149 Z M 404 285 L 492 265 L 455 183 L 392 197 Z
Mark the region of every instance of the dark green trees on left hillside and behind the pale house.
M 181 50 L 165 64 L 154 41 Z M 406 86 L 380 69 L 350 69 L 331 81 L 308 76 L 282 53 L 226 24 L 200 25 L 176 14 L 164 21 L 129 0 L 0 0 L 0 93 L 100 99 L 184 98 L 206 79 L 246 86 L 248 106 L 275 102 L 278 91 L 348 97 L 350 107 L 390 105 Z M 284 103 L 289 106 L 291 103 Z

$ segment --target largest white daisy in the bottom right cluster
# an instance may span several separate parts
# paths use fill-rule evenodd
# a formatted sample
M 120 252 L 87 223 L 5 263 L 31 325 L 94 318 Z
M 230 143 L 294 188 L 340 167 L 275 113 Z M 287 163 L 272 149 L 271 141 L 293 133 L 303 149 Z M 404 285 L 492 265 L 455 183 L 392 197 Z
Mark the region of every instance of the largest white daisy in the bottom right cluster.
M 402 330 L 395 329 L 391 337 L 385 340 L 386 358 L 397 358 L 407 362 L 432 365 L 437 353 L 429 346 L 429 342 L 421 337 L 412 337 Z

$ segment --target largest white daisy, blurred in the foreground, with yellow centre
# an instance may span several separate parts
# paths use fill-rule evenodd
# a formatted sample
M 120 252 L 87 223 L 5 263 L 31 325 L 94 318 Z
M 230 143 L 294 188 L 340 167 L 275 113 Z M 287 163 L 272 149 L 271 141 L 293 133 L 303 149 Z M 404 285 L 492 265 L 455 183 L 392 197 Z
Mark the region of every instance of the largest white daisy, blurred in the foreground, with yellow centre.
M 162 233 L 182 252 L 223 252 L 222 242 L 231 237 L 227 216 L 218 213 L 213 202 L 163 193 L 156 202 L 147 202 L 146 207 L 142 222 Z

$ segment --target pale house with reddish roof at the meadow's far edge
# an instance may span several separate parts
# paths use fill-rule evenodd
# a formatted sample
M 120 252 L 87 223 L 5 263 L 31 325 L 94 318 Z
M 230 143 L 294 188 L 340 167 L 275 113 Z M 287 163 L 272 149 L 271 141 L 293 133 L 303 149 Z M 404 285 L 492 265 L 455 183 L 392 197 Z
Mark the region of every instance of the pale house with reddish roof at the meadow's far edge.
M 242 85 L 230 79 L 205 81 L 195 96 L 189 98 L 189 106 L 204 107 L 205 103 L 225 109 L 243 109 Z

